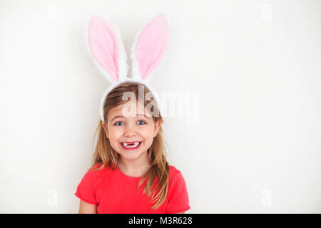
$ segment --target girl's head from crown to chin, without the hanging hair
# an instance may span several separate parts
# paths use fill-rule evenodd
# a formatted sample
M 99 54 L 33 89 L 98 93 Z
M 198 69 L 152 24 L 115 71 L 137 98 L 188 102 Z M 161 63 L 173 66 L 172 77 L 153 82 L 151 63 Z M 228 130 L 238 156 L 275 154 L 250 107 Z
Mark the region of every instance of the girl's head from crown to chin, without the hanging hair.
M 138 83 L 122 83 L 108 94 L 104 104 L 103 130 L 111 147 L 122 160 L 135 160 L 148 153 L 148 149 L 153 144 L 153 138 L 158 135 L 163 122 L 161 116 L 152 115 L 155 110 L 153 112 L 148 110 L 148 103 L 152 102 L 146 100 L 145 95 L 149 91 L 145 90 L 141 95 L 138 92 L 139 86 L 145 87 Z M 131 95 L 129 100 L 127 100 L 128 96 L 124 96 L 125 94 Z M 153 105 L 157 104 L 153 103 Z M 138 148 L 129 152 L 124 148 L 128 146 L 128 144 L 124 145 L 124 142 L 133 144 L 129 146 L 139 143 Z

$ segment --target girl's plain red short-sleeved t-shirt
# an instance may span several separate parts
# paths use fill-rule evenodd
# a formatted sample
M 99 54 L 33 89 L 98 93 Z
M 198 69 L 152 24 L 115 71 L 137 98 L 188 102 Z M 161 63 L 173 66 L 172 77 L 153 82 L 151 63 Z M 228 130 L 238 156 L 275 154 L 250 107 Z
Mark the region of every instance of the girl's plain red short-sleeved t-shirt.
M 100 167 L 97 164 L 94 167 Z M 169 167 L 168 195 L 165 202 L 156 210 L 150 209 L 151 199 L 143 194 L 143 182 L 137 190 L 141 177 L 129 177 L 119 168 L 111 170 L 89 169 L 83 176 L 76 190 L 76 197 L 89 204 L 97 204 L 98 214 L 170 214 L 185 212 L 190 209 L 185 180 L 175 167 Z M 158 177 L 153 183 L 156 186 Z

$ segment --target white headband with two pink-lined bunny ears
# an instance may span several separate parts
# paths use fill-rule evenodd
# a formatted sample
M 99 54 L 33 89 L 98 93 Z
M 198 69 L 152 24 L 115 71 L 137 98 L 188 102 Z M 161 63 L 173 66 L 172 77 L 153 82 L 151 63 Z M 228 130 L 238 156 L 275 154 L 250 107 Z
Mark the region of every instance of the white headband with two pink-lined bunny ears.
M 165 16 L 159 14 L 136 35 L 131 48 L 132 78 L 127 77 L 126 51 L 116 26 L 101 16 L 91 16 L 87 25 L 88 51 L 103 77 L 111 83 L 101 98 L 100 115 L 108 93 L 123 82 L 142 83 L 153 93 L 159 104 L 159 95 L 149 84 L 168 47 L 169 28 Z

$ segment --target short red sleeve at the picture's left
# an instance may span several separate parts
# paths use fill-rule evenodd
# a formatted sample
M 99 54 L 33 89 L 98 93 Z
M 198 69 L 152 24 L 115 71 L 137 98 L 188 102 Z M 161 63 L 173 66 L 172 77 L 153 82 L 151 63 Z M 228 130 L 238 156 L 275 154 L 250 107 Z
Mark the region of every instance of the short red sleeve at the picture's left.
M 88 170 L 77 187 L 76 197 L 88 204 L 97 204 L 95 180 L 96 171 Z

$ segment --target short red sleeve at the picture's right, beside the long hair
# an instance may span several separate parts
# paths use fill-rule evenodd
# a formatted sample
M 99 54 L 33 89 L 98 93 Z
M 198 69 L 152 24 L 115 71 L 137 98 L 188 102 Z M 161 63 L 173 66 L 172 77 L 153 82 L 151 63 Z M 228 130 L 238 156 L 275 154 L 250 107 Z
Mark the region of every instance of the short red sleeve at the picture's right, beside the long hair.
M 188 191 L 183 175 L 178 172 L 173 175 L 168 186 L 168 204 L 166 206 L 166 214 L 176 214 L 185 212 L 190 209 L 188 200 Z

